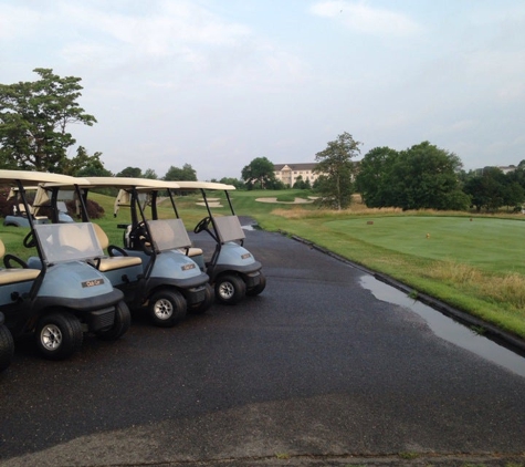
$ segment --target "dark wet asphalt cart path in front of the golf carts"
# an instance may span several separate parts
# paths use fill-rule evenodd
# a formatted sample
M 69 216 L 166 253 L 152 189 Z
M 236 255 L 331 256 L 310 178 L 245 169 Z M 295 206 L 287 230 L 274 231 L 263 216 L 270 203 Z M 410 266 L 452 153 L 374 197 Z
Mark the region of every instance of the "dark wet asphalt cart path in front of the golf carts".
M 135 316 L 64 362 L 18 341 L 0 466 L 525 465 L 524 377 L 377 300 L 359 269 L 279 234 L 245 247 L 267 287 L 238 305 L 172 329 Z

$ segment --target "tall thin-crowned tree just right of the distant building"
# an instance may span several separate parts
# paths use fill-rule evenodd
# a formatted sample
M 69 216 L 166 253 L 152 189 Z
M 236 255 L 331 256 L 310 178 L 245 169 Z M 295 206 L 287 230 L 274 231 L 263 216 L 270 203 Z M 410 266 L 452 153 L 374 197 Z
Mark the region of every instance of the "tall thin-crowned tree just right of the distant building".
M 354 141 L 349 133 L 338 135 L 337 139 L 328 143 L 326 149 L 315 155 L 317 165 L 315 173 L 321 203 L 337 209 L 347 208 L 354 193 L 353 177 L 355 164 L 351 158 L 359 154 L 359 142 Z

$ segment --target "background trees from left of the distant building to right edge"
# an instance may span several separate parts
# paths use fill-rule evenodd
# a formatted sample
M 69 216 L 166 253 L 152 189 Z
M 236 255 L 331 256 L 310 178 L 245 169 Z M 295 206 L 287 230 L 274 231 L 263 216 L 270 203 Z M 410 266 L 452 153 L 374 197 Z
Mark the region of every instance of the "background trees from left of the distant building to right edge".
M 497 167 L 465 172 L 455 154 L 429 142 L 405 151 L 375 147 L 354 160 L 360 144 L 343 133 L 315 155 L 315 183 L 297 178 L 293 188 L 312 189 L 319 204 L 336 209 L 347 208 L 356 193 L 369 208 L 403 210 L 521 211 L 525 203 L 525 160 L 508 173 Z M 248 189 L 291 188 L 275 178 L 274 165 L 265 157 L 253 159 L 242 176 Z

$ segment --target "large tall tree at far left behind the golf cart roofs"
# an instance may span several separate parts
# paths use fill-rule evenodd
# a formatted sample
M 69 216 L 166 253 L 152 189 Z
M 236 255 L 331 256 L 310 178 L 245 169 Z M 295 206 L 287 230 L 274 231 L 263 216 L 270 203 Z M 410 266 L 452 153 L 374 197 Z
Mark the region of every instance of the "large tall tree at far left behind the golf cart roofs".
M 61 77 L 50 69 L 34 69 L 35 82 L 0 84 L 0 163 L 4 167 L 61 170 L 66 151 L 76 143 L 70 124 L 92 126 L 93 115 L 76 102 L 80 77 Z

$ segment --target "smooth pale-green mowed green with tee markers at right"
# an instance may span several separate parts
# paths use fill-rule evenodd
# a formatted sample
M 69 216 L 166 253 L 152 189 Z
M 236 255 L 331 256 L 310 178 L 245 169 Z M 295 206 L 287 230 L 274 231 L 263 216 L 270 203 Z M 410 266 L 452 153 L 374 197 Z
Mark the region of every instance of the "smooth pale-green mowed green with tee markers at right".
M 374 224 L 367 224 L 371 221 Z M 328 221 L 342 235 L 407 256 L 525 276 L 525 222 L 465 217 L 377 217 Z

